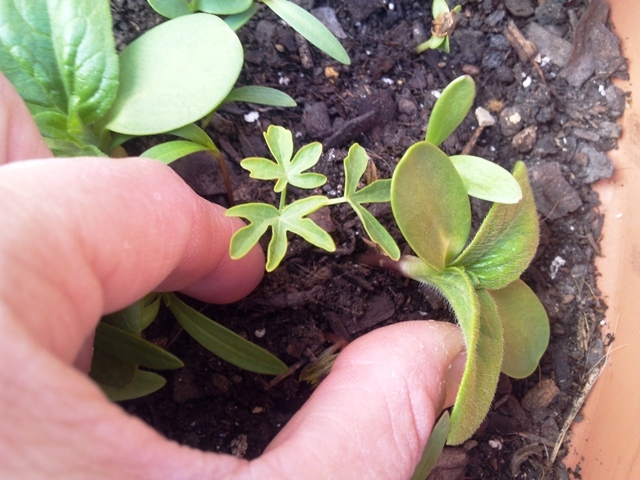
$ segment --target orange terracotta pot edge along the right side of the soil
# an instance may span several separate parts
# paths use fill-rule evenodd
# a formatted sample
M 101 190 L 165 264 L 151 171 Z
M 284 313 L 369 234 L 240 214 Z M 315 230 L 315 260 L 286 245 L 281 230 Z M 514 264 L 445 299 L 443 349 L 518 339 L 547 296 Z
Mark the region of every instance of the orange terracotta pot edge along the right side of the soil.
M 615 173 L 595 186 L 605 214 L 598 288 L 609 309 L 603 335 L 615 335 L 608 361 L 572 427 L 565 464 L 584 480 L 640 479 L 640 8 L 638 0 L 608 0 L 614 32 L 629 59 L 631 92 Z

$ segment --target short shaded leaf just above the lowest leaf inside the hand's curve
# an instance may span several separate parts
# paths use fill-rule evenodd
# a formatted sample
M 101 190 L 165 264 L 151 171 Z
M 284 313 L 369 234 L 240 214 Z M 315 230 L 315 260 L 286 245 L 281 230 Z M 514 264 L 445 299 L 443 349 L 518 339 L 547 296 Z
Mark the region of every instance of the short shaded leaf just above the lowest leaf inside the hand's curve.
M 172 370 L 184 366 L 178 357 L 166 350 L 140 336 L 104 322 L 98 323 L 94 347 L 146 368 Z

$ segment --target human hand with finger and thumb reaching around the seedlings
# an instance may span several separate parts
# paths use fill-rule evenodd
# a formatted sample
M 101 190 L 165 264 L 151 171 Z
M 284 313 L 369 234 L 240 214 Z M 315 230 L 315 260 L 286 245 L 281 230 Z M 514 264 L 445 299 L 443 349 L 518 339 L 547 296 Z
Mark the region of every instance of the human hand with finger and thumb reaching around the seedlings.
M 51 157 L 0 75 L 0 477 L 410 477 L 464 365 L 457 327 L 406 322 L 350 344 L 258 459 L 179 446 L 73 365 L 100 316 L 151 290 L 234 301 L 262 278 L 242 225 L 145 159 Z M 26 160 L 26 161 L 25 161 Z

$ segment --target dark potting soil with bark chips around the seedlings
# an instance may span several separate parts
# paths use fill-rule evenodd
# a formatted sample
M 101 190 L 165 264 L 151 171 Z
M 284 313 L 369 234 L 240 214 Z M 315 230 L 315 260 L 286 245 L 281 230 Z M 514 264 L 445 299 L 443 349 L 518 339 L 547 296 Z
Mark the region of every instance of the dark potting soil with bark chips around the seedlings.
M 161 21 L 142 0 L 111 3 L 120 48 Z M 245 68 L 239 85 L 278 88 L 298 107 L 227 105 L 213 118 L 208 131 L 227 159 L 236 202 L 275 201 L 270 185 L 251 180 L 239 166 L 244 157 L 268 154 L 262 132 L 269 125 L 291 129 L 298 148 L 323 143 L 317 171 L 329 178 L 325 193 L 338 195 L 341 162 L 352 143 L 367 150 L 379 177 L 390 177 L 406 148 L 423 138 L 434 94 L 462 74 L 473 76 L 474 108 L 486 108 L 496 120 L 473 153 L 508 169 L 524 160 L 530 172 L 541 239 L 523 278 L 547 309 L 552 337 L 534 375 L 501 378 L 480 430 L 461 447 L 446 449 L 430 478 L 579 478 L 549 455 L 559 438 L 558 458 L 571 448 L 561 429 L 612 340 L 603 341 L 598 332 L 606 307 L 593 262 L 602 216 L 590 188 L 612 174 L 605 152 L 616 146 L 615 121 L 625 105 L 624 93 L 610 82 L 624 76 L 626 67 L 607 24 L 606 4 L 461 0 L 451 53 L 418 55 L 414 48 L 431 28 L 428 2 L 298 3 L 329 18 L 352 64 L 340 65 L 309 47 L 266 7 L 242 28 Z M 249 122 L 250 112 L 258 119 Z M 459 153 L 475 128 L 472 112 L 444 150 Z M 130 153 L 139 153 L 146 142 L 132 145 Z M 196 155 L 175 168 L 199 194 L 226 202 L 210 158 Z M 476 219 L 487 210 L 474 203 Z M 372 211 L 403 246 L 389 207 Z M 249 297 L 227 306 L 193 305 L 288 365 L 313 362 L 331 334 L 352 340 L 409 319 L 452 321 L 442 300 L 416 282 L 357 262 L 367 249 L 366 236 L 351 211 L 335 207 L 316 221 L 334 237 L 335 254 L 293 237 L 282 266 Z M 166 311 L 145 334 L 182 358 L 185 367 L 169 372 L 167 386 L 156 394 L 123 406 L 180 443 L 255 458 L 311 394 L 299 371 L 272 385 L 272 378 L 219 360 L 181 332 Z

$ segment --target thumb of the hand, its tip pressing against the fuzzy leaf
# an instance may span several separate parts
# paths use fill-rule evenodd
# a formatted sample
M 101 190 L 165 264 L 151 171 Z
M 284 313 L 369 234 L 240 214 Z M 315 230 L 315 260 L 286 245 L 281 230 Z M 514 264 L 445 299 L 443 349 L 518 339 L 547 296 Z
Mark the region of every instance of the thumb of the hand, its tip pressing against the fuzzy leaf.
M 252 478 L 409 478 L 464 367 L 458 327 L 405 322 L 375 330 L 251 464 Z M 256 473 L 256 472 L 254 472 Z

